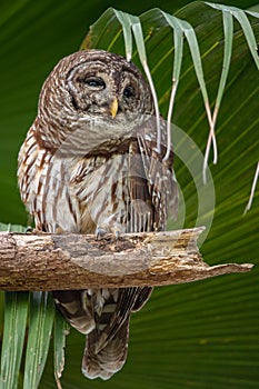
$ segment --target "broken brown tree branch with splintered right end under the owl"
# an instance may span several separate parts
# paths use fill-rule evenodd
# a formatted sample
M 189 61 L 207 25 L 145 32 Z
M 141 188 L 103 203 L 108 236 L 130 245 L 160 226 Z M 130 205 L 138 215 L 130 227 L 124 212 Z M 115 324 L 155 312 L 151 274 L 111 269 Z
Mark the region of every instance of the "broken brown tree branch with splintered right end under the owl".
M 0 233 L 1 290 L 162 286 L 246 272 L 252 265 L 202 261 L 203 228 L 141 232 L 99 240 L 90 235 Z

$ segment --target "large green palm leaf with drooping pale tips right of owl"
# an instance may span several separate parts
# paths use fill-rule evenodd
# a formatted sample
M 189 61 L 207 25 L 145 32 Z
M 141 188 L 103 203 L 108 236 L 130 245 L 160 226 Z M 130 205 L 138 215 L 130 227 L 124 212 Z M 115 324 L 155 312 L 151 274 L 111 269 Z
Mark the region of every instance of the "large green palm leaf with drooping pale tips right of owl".
M 63 18 L 66 22 L 73 18 L 74 2 L 73 6 L 71 3 L 67 0 L 63 7 L 56 8 L 56 18 Z M 28 1 L 27 6 L 20 7 L 28 11 L 30 4 L 31 1 Z M 180 9 L 173 17 L 169 11 L 153 9 L 136 19 L 131 13 L 138 11 L 131 6 L 130 14 L 107 10 L 92 26 L 82 46 L 107 49 L 127 54 L 128 58 L 131 56 L 139 67 L 142 63 L 147 74 L 147 69 L 150 69 L 159 109 L 178 126 L 173 128 L 172 139 L 176 151 L 175 168 L 181 190 L 179 222 L 185 227 L 207 225 L 208 236 L 201 247 L 207 261 L 211 265 L 232 260 L 258 263 L 257 192 L 251 210 L 243 216 L 259 160 L 256 44 L 259 41 L 258 14 L 198 1 Z M 91 13 L 81 13 L 80 9 L 77 20 L 86 23 Z M 10 13 L 3 12 L 2 18 L 4 16 L 4 20 L 10 18 Z M 51 16 L 48 14 L 47 19 L 51 20 Z M 42 26 L 40 19 L 38 23 Z M 54 32 L 51 33 L 44 51 L 51 53 L 51 66 L 63 53 L 76 50 L 80 38 L 77 36 L 77 42 L 72 42 L 71 37 L 77 33 L 74 31 L 73 34 L 73 30 L 72 27 L 68 29 L 63 24 L 62 37 L 54 50 Z M 185 40 L 182 37 L 186 37 Z M 26 38 L 24 41 L 27 42 Z M 9 44 L 11 48 L 11 40 Z M 58 51 L 60 44 L 62 50 Z M 36 51 L 37 48 L 38 44 L 34 44 Z M 28 56 L 24 46 L 23 50 Z M 8 52 L 7 47 L 6 51 Z M 41 51 L 38 52 L 40 56 Z M 42 60 L 33 60 L 30 56 L 27 63 L 34 63 L 33 69 L 39 66 L 33 77 L 38 77 L 41 71 L 42 81 L 51 66 L 49 63 L 47 69 L 48 67 L 43 68 Z M 24 69 L 30 68 L 28 66 Z M 21 86 L 22 83 L 20 88 Z M 4 89 L 3 82 L 2 88 L 10 90 L 10 83 L 6 83 Z M 22 88 L 24 93 L 26 86 Z M 28 91 L 33 103 L 37 101 L 37 93 L 34 87 Z M 14 96 L 19 103 L 21 101 L 23 111 L 28 111 L 29 106 L 26 106 L 24 99 L 18 98 L 19 91 Z M 17 119 L 16 128 L 28 127 L 28 118 L 31 121 L 33 114 L 30 112 L 26 117 L 21 113 L 20 117 L 22 120 Z M 8 123 L 8 116 L 4 120 L 2 126 Z M 11 137 L 7 139 L 7 144 L 11 144 Z M 13 142 L 16 148 L 21 139 L 19 136 L 19 142 Z M 211 144 L 213 156 L 210 152 Z M 200 152 L 206 153 L 205 160 Z M 6 161 L 10 160 L 7 150 L 3 150 L 2 156 Z M 213 164 L 217 160 L 218 163 Z M 203 169 L 203 178 L 207 178 L 207 184 L 203 186 L 202 163 L 206 168 L 207 162 L 210 169 Z M 12 178 L 9 174 L 6 180 L 7 183 L 14 182 L 14 174 Z M 12 197 L 14 199 L 14 194 Z M 211 205 L 215 199 L 213 215 Z M 2 203 L 8 203 L 8 200 L 4 199 Z M 18 205 L 17 210 L 4 218 L 12 218 L 16 222 L 23 220 L 24 223 L 21 206 Z M 170 225 L 173 228 L 175 226 Z M 258 297 L 257 267 L 246 276 L 228 276 L 156 289 L 145 309 L 132 317 L 126 367 L 112 380 L 104 382 L 106 387 L 257 388 Z M 58 340 L 60 347 L 63 345 L 62 339 Z M 86 381 L 80 373 L 83 342 L 82 336 L 71 331 L 62 378 L 64 388 L 100 388 L 100 381 Z M 62 366 L 62 360 L 63 356 L 60 353 L 59 367 L 60 363 Z M 54 388 L 52 375 L 50 361 L 39 387 Z

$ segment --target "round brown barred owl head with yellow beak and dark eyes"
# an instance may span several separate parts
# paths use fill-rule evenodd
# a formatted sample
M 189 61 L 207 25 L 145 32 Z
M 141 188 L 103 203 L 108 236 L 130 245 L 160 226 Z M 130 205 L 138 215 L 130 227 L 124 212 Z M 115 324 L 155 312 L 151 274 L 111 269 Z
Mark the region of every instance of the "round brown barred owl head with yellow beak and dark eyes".
M 132 137 L 151 114 L 149 86 L 133 63 L 102 50 L 78 51 L 63 58 L 43 83 L 38 139 L 48 148 L 67 142 L 69 149 L 77 138 L 89 152 Z

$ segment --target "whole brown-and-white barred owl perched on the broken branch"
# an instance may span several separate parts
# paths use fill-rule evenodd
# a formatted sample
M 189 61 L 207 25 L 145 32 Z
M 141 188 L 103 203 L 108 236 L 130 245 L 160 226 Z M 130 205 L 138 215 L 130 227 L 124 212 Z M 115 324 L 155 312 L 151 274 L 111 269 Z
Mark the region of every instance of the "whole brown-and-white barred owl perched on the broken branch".
M 47 232 L 156 231 L 176 210 L 166 126 L 156 149 L 152 96 L 138 68 L 101 50 L 63 58 L 43 83 L 19 152 L 21 199 Z M 100 269 L 101 271 L 101 269 Z M 87 286 L 86 286 L 87 288 Z M 150 287 L 58 290 L 64 318 L 87 336 L 82 372 L 110 378 L 127 357 L 129 321 Z

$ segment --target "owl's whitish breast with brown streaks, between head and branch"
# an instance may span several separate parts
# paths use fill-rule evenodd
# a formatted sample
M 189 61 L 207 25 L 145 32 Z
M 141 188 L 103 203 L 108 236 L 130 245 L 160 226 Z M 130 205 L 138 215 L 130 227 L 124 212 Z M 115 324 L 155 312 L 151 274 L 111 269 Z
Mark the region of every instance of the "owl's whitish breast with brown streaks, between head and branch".
M 40 149 L 32 127 L 19 154 L 19 184 L 37 229 L 84 233 L 94 233 L 97 227 L 107 232 L 152 230 L 153 209 L 142 160 L 136 152 L 138 141 L 132 140 L 127 152 L 124 149 L 109 158 L 63 158 Z

